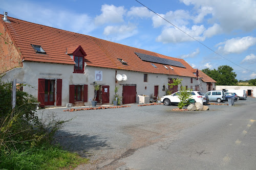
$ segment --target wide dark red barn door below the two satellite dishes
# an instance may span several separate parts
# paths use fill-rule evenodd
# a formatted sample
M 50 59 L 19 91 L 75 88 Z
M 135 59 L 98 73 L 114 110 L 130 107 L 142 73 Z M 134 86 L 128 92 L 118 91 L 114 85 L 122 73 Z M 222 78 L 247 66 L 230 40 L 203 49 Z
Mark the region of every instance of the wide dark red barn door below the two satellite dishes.
M 136 86 L 123 86 L 123 104 L 136 103 Z

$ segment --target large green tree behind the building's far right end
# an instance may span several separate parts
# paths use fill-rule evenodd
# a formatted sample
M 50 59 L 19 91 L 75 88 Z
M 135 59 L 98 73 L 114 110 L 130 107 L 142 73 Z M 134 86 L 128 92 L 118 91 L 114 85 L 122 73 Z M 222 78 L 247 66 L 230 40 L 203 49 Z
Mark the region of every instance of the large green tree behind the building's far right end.
M 216 85 L 234 86 L 237 85 L 238 80 L 236 79 L 237 74 L 233 72 L 233 68 L 228 65 L 221 65 L 218 69 L 205 68 L 202 71 L 215 81 Z

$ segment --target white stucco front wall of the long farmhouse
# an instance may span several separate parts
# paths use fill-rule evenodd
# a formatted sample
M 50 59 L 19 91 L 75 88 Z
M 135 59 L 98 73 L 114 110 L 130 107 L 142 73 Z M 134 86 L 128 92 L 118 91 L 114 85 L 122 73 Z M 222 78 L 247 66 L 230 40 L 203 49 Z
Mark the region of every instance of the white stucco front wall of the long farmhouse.
M 102 71 L 102 81 L 95 81 L 95 71 Z M 116 81 L 116 70 L 117 74 L 125 74 L 127 76 L 126 81 Z M 61 106 L 66 106 L 69 103 L 69 85 L 88 85 L 88 102 L 84 103 L 89 105 L 89 98 L 94 98 L 94 85 L 93 82 L 96 82 L 99 85 L 108 85 L 110 86 L 110 104 L 114 100 L 114 89 L 115 85 L 119 86 L 118 94 L 122 96 L 122 86 L 135 85 L 137 94 L 145 95 L 154 95 L 155 86 L 158 87 L 158 96 L 165 95 L 165 90 L 163 91 L 163 86 L 168 88 L 168 78 L 180 78 L 183 79 L 183 86 L 193 86 L 195 90 L 195 85 L 200 85 L 200 89 L 203 92 L 206 92 L 206 83 L 201 81 L 201 79 L 196 80 L 193 78 L 193 83 L 190 83 L 190 77 L 178 77 L 174 75 L 163 75 L 163 74 L 151 74 L 147 72 L 136 72 L 128 70 L 118 70 L 102 67 L 92 67 L 86 66 L 84 69 L 84 74 L 73 73 L 74 66 L 67 64 L 54 64 L 54 63 L 38 63 L 38 62 L 24 62 L 23 68 L 14 68 L 8 72 L 2 78 L 3 81 L 12 81 L 17 79 L 17 83 L 26 83 L 30 86 L 24 86 L 24 91 L 29 92 L 37 98 L 38 95 L 38 79 L 51 79 L 55 80 L 55 89 L 56 89 L 56 80 L 62 79 L 62 99 Z M 144 74 L 147 74 L 147 82 L 144 82 Z M 146 87 L 146 89 L 145 89 Z M 56 98 L 56 90 L 55 90 Z M 55 102 L 56 105 L 56 102 Z

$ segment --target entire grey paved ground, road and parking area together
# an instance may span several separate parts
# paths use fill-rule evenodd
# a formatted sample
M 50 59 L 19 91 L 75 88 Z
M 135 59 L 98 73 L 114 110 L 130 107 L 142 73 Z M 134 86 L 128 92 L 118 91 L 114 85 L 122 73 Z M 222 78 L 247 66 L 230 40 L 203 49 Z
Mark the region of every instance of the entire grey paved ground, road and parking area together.
M 73 118 L 56 142 L 91 159 L 76 169 L 256 169 L 256 99 L 209 111 L 173 108 L 38 112 Z

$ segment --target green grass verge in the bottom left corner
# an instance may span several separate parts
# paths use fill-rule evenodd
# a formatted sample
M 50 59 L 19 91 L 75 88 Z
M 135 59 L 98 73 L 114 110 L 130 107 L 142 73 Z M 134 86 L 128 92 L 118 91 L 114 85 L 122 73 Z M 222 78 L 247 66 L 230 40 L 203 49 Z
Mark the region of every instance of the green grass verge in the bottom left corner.
M 53 145 L 0 153 L 0 169 L 73 169 L 84 163 L 89 159 Z

